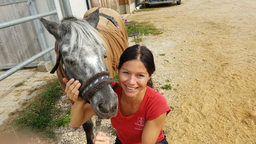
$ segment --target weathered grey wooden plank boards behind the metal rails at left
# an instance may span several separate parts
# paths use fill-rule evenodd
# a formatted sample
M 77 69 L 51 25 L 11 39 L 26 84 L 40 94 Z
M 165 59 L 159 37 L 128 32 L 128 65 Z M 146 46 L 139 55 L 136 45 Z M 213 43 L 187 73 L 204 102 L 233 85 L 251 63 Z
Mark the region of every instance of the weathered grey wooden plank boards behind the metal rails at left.
M 30 16 L 27 1 L 0 6 L 0 23 Z M 16 65 L 41 52 L 33 21 L 0 29 L 0 65 Z M 35 62 L 44 61 L 41 57 Z

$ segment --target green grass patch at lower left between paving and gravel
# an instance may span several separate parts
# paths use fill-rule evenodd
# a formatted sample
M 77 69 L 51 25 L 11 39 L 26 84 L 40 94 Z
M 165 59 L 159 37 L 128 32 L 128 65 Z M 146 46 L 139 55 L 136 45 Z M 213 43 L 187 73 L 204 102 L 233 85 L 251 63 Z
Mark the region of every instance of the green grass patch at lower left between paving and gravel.
M 19 119 L 13 122 L 13 125 L 35 132 L 39 135 L 54 138 L 49 126 L 53 123 L 53 118 L 57 114 L 54 107 L 57 98 L 61 97 L 62 88 L 58 80 L 47 83 L 43 91 L 37 94 L 34 101 L 22 110 Z

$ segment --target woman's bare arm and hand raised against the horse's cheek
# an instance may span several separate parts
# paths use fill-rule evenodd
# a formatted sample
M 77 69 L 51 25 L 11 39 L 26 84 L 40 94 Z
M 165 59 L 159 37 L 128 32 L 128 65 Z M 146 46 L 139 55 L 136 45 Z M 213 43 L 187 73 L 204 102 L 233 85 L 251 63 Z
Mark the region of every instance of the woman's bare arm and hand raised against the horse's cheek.
M 85 101 L 78 97 L 78 89 L 81 86 L 81 83 L 79 83 L 78 80 L 75 81 L 72 78 L 68 81 L 67 78 L 63 78 L 63 81 L 67 84 L 65 89 L 67 97 L 74 101 L 70 112 L 70 126 L 79 127 L 89 120 L 95 114 L 95 112 L 90 104 L 85 104 Z

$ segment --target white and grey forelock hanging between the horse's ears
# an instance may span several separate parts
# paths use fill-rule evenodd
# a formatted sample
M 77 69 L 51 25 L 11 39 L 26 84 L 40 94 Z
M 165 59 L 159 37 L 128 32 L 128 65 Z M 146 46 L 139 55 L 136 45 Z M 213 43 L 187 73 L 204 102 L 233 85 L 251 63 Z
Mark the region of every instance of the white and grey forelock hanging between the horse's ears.
M 74 46 L 78 48 L 76 53 L 79 53 L 84 44 L 90 48 L 97 48 L 101 45 L 102 50 L 106 50 L 99 32 L 87 20 L 72 16 L 63 18 L 61 24 L 65 25 L 64 30 L 70 34 L 70 55 Z M 91 49 L 91 51 L 94 52 L 95 49 Z

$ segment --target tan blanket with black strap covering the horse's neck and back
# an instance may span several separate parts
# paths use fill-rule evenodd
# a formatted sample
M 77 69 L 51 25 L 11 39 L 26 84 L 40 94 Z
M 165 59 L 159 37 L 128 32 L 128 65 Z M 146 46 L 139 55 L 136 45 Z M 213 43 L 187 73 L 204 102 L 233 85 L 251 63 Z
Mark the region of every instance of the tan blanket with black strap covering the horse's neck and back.
M 86 19 L 85 16 L 87 14 L 92 13 L 97 8 L 98 7 L 89 9 L 84 14 L 84 19 Z M 117 67 L 119 64 L 119 58 L 123 51 L 128 47 L 128 36 L 123 19 L 116 11 L 109 8 L 100 8 L 99 12 L 114 17 L 115 21 L 119 25 L 119 28 L 117 28 L 110 20 L 102 16 L 100 16 L 100 21 L 97 25 L 97 28 L 100 29 L 100 37 L 102 38 L 105 44 L 105 48 L 107 49 L 105 53 L 105 55 L 107 56 L 107 58 L 105 58 L 106 66 L 110 72 L 111 78 L 113 78 L 118 70 Z M 55 44 L 55 53 L 58 58 L 59 52 L 57 47 L 58 45 Z M 61 61 L 58 69 L 56 70 L 56 73 L 59 79 L 60 86 L 65 91 L 66 84 L 63 82 L 62 79 L 66 77 L 66 75 L 63 72 L 63 65 Z

